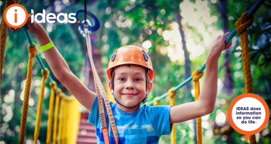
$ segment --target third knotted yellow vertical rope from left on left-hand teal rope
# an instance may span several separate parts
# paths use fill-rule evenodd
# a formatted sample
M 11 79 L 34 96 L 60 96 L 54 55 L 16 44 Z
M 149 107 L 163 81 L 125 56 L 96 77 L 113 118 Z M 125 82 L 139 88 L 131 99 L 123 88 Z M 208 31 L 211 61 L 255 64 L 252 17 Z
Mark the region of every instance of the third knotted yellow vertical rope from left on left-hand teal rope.
M 51 144 L 56 82 L 55 81 L 53 81 L 53 83 L 50 82 L 49 85 L 51 87 L 51 94 L 50 94 L 50 100 L 49 100 L 49 113 L 48 113 L 48 122 L 47 122 L 46 144 Z

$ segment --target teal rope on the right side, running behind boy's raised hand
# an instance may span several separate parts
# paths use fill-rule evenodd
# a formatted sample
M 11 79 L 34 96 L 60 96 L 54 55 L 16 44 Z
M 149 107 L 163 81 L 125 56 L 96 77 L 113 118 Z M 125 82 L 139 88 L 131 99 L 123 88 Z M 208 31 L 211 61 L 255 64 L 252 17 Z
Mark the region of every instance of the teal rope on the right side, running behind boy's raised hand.
M 248 19 L 250 19 L 253 14 L 259 9 L 259 7 L 261 6 L 261 4 L 264 2 L 265 0 L 257 0 L 253 6 L 249 9 L 249 11 L 246 14 L 246 17 Z M 229 36 L 227 36 L 225 43 L 229 43 L 231 41 L 231 39 L 236 35 L 236 29 L 234 28 L 232 30 L 232 32 L 229 34 Z M 198 70 L 199 73 L 201 73 L 206 67 L 206 63 Z M 182 83 L 180 83 L 179 85 L 177 85 L 174 89 L 173 92 L 177 91 L 179 88 L 185 86 L 188 82 L 190 82 L 193 79 L 193 76 L 190 76 L 189 78 L 187 78 L 185 81 L 183 81 Z M 164 93 L 163 95 L 159 96 L 156 100 L 160 101 L 161 99 L 165 98 L 166 96 L 168 96 L 168 92 Z M 146 105 L 152 105 L 154 104 L 154 101 L 150 101 L 148 103 L 146 103 Z

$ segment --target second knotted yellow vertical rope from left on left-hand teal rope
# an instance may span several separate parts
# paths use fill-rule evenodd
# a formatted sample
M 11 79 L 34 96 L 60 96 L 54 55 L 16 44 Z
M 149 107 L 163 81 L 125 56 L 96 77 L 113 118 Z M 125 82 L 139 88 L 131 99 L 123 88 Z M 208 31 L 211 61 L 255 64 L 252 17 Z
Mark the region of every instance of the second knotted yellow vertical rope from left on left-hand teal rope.
M 49 75 L 49 70 L 47 68 L 45 69 L 46 69 L 45 72 L 41 70 L 42 82 L 40 86 L 39 104 L 38 104 L 36 126 L 35 126 L 35 133 L 34 133 L 34 144 L 37 144 L 38 139 L 39 139 L 39 128 L 40 128 L 40 120 L 41 120 L 42 105 L 43 105 L 43 98 L 44 98 L 45 80 L 48 78 L 48 75 Z

